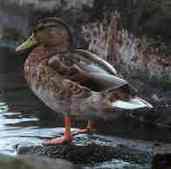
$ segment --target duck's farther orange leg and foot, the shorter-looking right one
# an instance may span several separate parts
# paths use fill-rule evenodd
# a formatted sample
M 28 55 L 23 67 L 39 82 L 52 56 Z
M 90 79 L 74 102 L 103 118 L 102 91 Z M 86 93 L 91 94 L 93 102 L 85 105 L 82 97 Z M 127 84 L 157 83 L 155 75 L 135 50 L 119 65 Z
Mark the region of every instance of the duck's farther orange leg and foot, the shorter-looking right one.
M 94 131 L 96 131 L 95 122 L 92 120 L 88 120 L 87 127 L 85 129 L 79 129 L 79 131 L 73 133 L 73 135 L 91 133 Z

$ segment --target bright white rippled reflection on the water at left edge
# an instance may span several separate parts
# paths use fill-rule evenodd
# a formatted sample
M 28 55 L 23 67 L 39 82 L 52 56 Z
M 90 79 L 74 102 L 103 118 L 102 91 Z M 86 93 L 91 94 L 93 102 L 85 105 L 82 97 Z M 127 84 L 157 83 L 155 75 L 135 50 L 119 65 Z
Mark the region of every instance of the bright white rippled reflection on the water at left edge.
M 38 121 L 31 115 L 9 112 L 7 104 L 0 103 L 0 153 L 15 155 L 17 144 L 39 144 L 47 135 L 55 135 L 55 129 L 39 128 Z

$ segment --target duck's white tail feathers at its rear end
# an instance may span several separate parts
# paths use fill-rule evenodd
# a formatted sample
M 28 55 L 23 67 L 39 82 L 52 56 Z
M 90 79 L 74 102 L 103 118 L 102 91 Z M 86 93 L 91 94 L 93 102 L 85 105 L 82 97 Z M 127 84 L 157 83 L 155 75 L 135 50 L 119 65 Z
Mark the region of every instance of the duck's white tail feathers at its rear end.
M 136 110 L 141 108 L 153 108 L 153 106 L 145 101 L 144 99 L 141 99 L 139 97 L 134 97 L 128 101 L 123 100 L 117 100 L 112 103 L 113 108 L 119 108 L 119 109 L 125 109 L 125 110 Z

